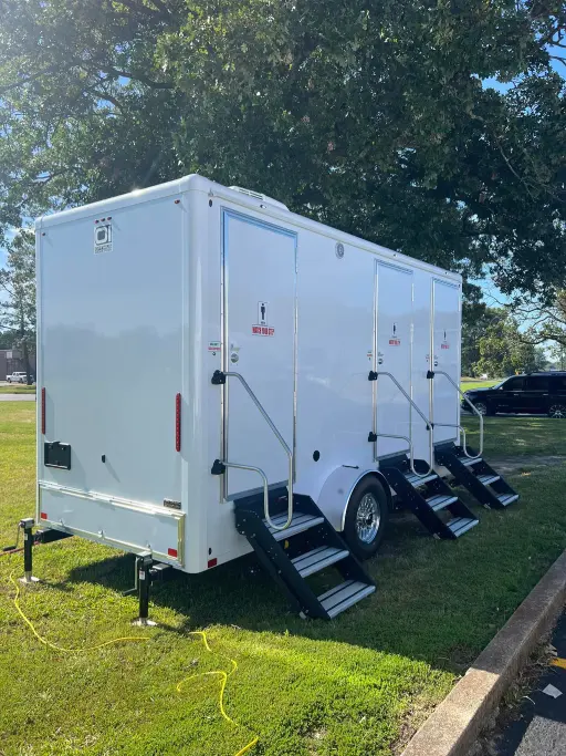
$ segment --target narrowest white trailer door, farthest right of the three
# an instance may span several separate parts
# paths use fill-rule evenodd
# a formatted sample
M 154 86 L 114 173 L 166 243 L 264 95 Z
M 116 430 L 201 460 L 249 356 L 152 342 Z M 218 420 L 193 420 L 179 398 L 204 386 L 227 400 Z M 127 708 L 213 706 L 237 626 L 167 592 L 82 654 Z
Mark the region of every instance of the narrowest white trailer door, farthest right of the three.
M 433 329 L 433 405 L 434 443 L 458 438 L 460 394 L 444 375 L 460 385 L 460 287 L 458 283 L 432 279 L 434 303 Z

